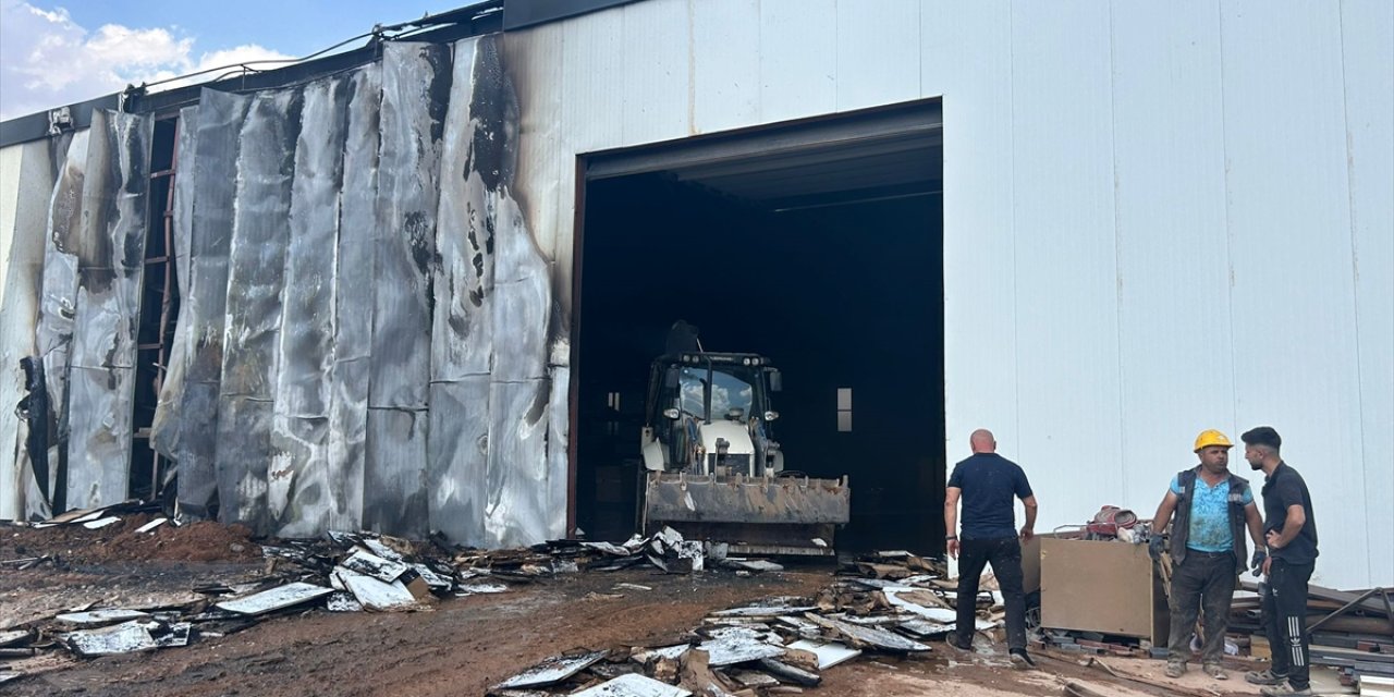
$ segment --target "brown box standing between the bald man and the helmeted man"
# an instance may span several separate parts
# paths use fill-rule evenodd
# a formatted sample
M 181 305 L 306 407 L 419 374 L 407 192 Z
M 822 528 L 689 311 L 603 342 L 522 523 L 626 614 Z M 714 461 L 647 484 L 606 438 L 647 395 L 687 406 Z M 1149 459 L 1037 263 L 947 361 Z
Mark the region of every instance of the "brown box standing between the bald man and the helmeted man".
M 1039 559 L 1043 626 L 1167 644 L 1167 595 L 1146 545 L 1047 537 Z

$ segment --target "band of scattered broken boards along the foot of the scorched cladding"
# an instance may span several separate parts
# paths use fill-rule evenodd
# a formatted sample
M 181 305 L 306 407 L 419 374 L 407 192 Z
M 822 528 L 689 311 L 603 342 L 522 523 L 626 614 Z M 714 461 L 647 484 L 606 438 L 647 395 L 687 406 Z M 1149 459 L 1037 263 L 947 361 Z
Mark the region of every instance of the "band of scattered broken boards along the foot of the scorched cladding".
M 184 526 L 158 516 L 158 506 L 127 502 L 92 510 L 72 510 L 42 523 L 15 524 L 36 530 L 84 527 L 99 530 L 130 519 L 144 520 L 135 539 L 121 544 L 159 545 Z M 93 527 L 92 523 L 100 523 Z M 197 523 L 216 526 L 216 523 Z M 130 528 L 127 528 L 130 530 Z M 123 537 L 125 534 L 123 533 Z M 413 542 L 374 533 L 332 531 L 316 539 L 273 539 L 259 546 L 233 542 L 238 555 L 259 551 L 255 577 L 238 583 L 210 580 L 191 588 L 183 601 L 156 608 L 102 606 L 88 602 L 66 612 L 14 626 L 0 626 L 0 661 L 67 651 L 98 657 L 183 647 L 201 638 L 227 636 L 272 618 L 314 609 L 329 612 L 420 612 L 447 597 L 506 592 L 519 584 L 580 572 L 612 572 L 634 566 L 665 573 L 722 570 L 751 574 L 782 569 L 764 559 L 728 558 L 726 545 L 689 541 L 671 530 L 634 537 L 623 545 L 584 539 L 556 539 L 521 549 L 481 551 L 442 539 Z M 0 569 L 66 569 L 56 553 L 0 559 Z M 618 584 L 618 591 L 645 592 L 640 584 Z M 6 672 L 6 679 L 14 679 Z

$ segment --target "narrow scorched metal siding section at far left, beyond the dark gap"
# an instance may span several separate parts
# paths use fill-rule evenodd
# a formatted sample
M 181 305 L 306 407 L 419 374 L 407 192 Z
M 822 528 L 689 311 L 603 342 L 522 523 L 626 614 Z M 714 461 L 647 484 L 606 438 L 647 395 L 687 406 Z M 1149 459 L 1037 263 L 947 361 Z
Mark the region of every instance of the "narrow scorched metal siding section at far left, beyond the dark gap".
M 47 414 L 26 429 L 45 452 L 21 456 L 43 463 L 35 512 L 127 496 L 153 124 L 95 112 L 89 130 L 52 141 L 35 326 Z M 46 434 L 31 439 L 35 429 Z

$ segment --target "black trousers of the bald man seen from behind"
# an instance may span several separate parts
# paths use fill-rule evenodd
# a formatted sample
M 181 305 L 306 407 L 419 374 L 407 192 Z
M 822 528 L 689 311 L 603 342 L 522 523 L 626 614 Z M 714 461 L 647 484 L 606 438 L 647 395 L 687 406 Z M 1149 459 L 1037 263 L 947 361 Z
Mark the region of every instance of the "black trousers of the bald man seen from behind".
M 973 637 L 977 583 L 988 563 L 1006 604 L 1006 648 L 1026 651 L 1026 594 L 1022 591 L 1022 545 L 1016 537 L 959 539 L 958 641 L 966 644 Z

